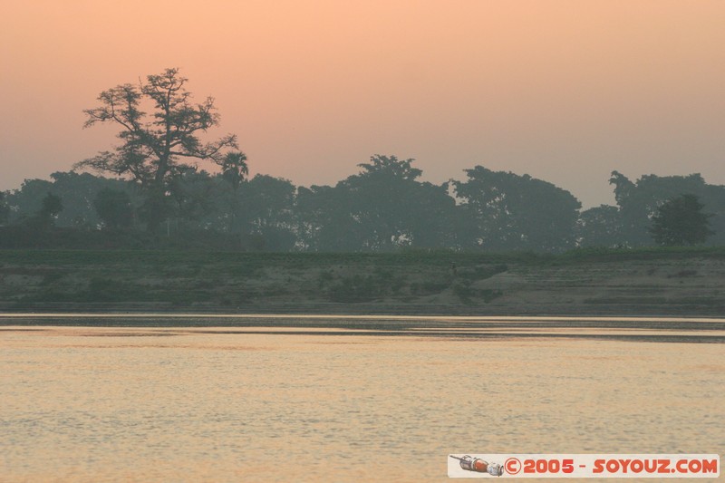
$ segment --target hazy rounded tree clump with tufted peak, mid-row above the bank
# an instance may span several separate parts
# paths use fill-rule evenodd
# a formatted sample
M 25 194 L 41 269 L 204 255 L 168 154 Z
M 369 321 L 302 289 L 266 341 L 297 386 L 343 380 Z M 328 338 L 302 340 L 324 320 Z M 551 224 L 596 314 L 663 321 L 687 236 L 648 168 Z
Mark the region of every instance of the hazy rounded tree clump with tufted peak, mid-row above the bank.
M 420 182 L 413 159 L 372 156 L 333 188 L 299 192 L 298 221 L 308 249 L 390 251 L 455 244 L 455 202 L 447 184 Z

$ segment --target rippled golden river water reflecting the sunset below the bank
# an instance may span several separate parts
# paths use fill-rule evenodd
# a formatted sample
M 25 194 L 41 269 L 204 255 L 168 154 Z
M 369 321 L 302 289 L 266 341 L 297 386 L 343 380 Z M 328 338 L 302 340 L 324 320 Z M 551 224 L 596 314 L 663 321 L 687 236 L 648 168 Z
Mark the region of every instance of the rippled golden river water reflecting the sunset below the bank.
M 0 327 L 0 481 L 420 481 L 448 479 L 454 452 L 725 454 L 725 321 L 217 323 Z

